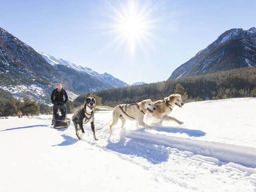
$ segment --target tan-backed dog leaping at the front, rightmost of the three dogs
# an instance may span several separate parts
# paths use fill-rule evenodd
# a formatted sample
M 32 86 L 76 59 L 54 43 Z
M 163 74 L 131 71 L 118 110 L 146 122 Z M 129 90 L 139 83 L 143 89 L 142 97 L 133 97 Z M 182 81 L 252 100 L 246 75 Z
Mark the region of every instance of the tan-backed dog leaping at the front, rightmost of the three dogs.
M 164 100 L 158 100 L 154 102 L 154 106 L 156 107 L 154 114 L 147 113 L 145 117 L 150 120 L 154 120 L 154 118 L 159 120 L 158 123 L 150 124 L 151 126 L 161 125 L 164 120 L 175 121 L 178 124 L 182 125 L 184 124 L 183 122 L 179 121 L 174 117 L 170 117 L 168 115 L 172 112 L 174 106 L 182 107 L 183 105 L 184 103 L 182 102 L 181 96 L 179 94 L 172 94 L 164 98 Z

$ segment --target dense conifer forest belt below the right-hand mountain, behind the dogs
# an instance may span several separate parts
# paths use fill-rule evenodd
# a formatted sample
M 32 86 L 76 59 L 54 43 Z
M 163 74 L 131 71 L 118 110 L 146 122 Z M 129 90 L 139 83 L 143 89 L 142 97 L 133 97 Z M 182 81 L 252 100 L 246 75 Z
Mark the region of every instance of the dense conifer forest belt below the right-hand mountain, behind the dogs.
M 163 99 L 176 91 L 180 84 L 186 90 L 188 102 L 217 100 L 237 97 L 256 97 L 256 67 L 247 67 L 207 75 L 191 76 L 164 82 L 115 88 L 94 92 L 102 98 L 102 104 L 116 106 L 122 103 L 135 103 L 150 98 Z M 88 94 L 78 96 L 76 105 L 84 102 Z

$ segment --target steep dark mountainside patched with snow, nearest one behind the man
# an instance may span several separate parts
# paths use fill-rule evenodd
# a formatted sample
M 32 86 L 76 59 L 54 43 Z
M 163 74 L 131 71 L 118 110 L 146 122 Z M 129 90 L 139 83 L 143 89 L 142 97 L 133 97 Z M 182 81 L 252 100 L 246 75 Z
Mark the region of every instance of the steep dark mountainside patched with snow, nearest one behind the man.
M 58 82 L 72 91 L 70 98 L 78 96 L 69 80 L 32 47 L 0 28 L 0 89 L 17 98 L 49 103 L 50 94 Z

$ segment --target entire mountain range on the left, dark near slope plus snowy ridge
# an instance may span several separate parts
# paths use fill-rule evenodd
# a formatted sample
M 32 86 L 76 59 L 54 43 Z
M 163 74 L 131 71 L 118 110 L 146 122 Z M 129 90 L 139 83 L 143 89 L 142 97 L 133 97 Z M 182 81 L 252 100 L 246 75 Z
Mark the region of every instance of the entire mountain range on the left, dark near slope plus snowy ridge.
M 81 93 L 127 86 L 110 74 L 98 74 L 52 56 L 47 57 L 49 64 L 44 58 L 0 28 L 0 88 L 16 98 L 50 103 L 50 94 L 57 83 L 69 90 L 71 100 Z

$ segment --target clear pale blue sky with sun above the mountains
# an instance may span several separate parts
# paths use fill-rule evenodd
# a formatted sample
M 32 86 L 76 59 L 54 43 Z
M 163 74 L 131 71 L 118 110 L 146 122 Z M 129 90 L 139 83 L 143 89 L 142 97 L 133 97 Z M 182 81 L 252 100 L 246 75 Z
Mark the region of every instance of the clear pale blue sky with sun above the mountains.
M 0 27 L 35 50 L 128 84 L 167 80 L 231 28 L 256 27 L 255 0 L 2 0 Z

